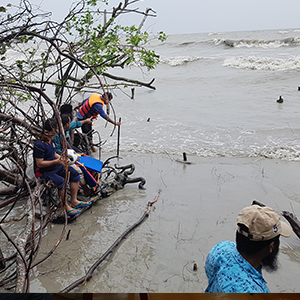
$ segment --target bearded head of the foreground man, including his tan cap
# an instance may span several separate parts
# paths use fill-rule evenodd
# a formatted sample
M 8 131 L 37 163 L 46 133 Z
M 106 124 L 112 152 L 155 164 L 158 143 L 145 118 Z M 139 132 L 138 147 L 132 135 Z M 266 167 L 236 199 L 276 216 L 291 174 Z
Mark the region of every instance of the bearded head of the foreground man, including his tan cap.
M 260 256 L 267 271 L 277 269 L 280 235 L 289 237 L 290 226 L 280 221 L 278 214 L 267 206 L 247 206 L 237 218 L 236 244 L 241 254 Z

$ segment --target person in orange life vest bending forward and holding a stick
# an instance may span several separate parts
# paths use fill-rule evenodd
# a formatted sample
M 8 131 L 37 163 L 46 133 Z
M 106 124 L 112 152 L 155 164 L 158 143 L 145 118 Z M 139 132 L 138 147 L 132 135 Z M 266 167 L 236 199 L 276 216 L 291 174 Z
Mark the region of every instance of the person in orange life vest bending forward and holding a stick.
M 112 94 L 106 92 L 104 95 L 100 94 L 92 94 L 89 98 L 82 101 L 82 103 L 77 106 L 79 111 L 77 113 L 77 119 L 79 121 L 88 119 L 88 118 L 97 118 L 100 115 L 103 119 L 107 120 L 108 122 L 120 126 L 120 122 L 113 121 L 103 110 L 104 105 L 108 105 L 109 101 L 113 98 Z M 84 124 L 81 127 L 83 133 L 88 135 L 89 141 L 92 145 L 93 137 L 92 137 L 92 124 Z M 92 145 L 92 151 L 97 152 L 96 148 Z

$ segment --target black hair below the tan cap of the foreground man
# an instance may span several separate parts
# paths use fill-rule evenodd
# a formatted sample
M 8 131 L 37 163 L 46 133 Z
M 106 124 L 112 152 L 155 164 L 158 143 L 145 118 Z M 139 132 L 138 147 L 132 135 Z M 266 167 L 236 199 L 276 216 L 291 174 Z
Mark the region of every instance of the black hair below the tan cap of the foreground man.
M 248 227 L 244 224 L 238 224 L 238 226 L 240 226 L 241 230 L 249 232 Z M 272 242 L 275 242 L 275 244 L 278 243 L 279 245 L 279 237 L 280 235 L 277 235 L 276 237 L 270 240 L 251 241 L 248 237 L 236 231 L 236 246 L 240 253 L 253 255 L 262 250 L 263 248 L 268 247 Z

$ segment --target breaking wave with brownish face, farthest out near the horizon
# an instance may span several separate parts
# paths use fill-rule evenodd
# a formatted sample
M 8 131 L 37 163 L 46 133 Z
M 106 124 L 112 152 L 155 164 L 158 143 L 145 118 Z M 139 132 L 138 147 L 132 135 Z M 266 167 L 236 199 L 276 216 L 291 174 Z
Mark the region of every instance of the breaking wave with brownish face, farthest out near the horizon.
M 215 39 L 215 45 L 225 44 L 228 47 L 235 48 L 279 48 L 279 47 L 289 47 L 289 46 L 299 46 L 300 38 L 290 37 L 285 39 L 277 40 L 257 40 L 257 39 L 240 39 L 240 40 L 230 40 L 230 39 Z

